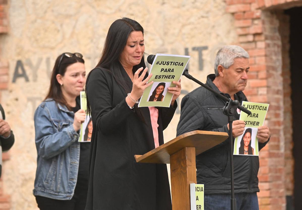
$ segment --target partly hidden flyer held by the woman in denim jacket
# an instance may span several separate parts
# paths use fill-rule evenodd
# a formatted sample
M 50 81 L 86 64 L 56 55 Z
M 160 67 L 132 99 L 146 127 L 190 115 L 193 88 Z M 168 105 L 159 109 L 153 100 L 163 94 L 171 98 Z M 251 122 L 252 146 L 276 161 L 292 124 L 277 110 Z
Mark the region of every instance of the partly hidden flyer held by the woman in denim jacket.
M 87 101 L 85 91 L 80 92 L 80 103 L 81 109 L 85 110 L 87 117 L 81 124 L 79 142 L 90 142 L 92 135 L 92 121 L 90 119 L 90 116 L 87 115 Z

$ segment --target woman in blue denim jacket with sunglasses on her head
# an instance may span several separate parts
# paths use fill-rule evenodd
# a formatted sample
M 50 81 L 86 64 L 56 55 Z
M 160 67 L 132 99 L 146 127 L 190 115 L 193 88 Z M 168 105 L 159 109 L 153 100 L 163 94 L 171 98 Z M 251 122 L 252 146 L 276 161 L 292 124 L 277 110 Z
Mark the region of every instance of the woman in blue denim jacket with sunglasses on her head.
M 34 114 L 37 172 L 34 196 L 41 210 L 83 210 L 86 204 L 90 143 L 79 143 L 85 120 L 79 95 L 85 84 L 80 53 L 56 59 L 45 100 Z

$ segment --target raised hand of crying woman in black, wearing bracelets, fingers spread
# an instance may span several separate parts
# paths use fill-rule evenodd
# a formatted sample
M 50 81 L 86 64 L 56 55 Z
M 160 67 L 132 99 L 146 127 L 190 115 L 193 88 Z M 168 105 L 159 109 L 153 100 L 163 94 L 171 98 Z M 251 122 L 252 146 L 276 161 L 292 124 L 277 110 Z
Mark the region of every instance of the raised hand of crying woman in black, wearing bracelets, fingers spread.
M 140 77 L 138 76 L 140 74 L 140 72 L 143 70 L 143 67 L 139 68 L 135 74 L 134 74 L 134 78 L 133 78 L 133 86 L 132 86 L 132 91 L 130 93 L 131 97 L 134 100 L 138 100 L 140 97 L 142 97 L 144 90 L 149 87 L 150 85 L 153 84 L 153 81 L 149 82 L 147 84 L 147 82 L 149 81 L 149 79 L 152 77 L 152 74 L 149 74 L 149 76 L 143 80 L 143 78 L 146 75 L 146 72 L 148 71 L 148 68 L 146 67 L 143 71 L 143 73 L 140 75 Z

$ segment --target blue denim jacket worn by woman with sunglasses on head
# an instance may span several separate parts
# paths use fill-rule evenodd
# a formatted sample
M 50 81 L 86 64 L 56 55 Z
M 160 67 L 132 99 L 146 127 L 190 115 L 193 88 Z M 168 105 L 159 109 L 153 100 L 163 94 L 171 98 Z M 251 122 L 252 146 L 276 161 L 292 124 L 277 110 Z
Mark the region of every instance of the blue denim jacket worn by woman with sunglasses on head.
M 72 111 L 52 99 L 42 102 L 35 111 L 35 196 L 72 199 L 80 157 L 79 134 L 72 126 L 73 118 Z

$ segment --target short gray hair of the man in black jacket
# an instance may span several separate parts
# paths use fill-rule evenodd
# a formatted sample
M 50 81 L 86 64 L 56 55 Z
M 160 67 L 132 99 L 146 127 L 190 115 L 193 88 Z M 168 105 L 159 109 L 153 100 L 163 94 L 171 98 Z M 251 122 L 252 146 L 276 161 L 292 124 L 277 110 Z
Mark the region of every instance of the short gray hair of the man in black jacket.
M 249 54 L 242 47 L 237 45 L 227 45 L 220 48 L 215 58 L 215 76 L 219 76 L 219 65 L 222 65 L 224 68 L 229 68 L 231 65 L 234 64 L 235 58 L 249 58 Z

